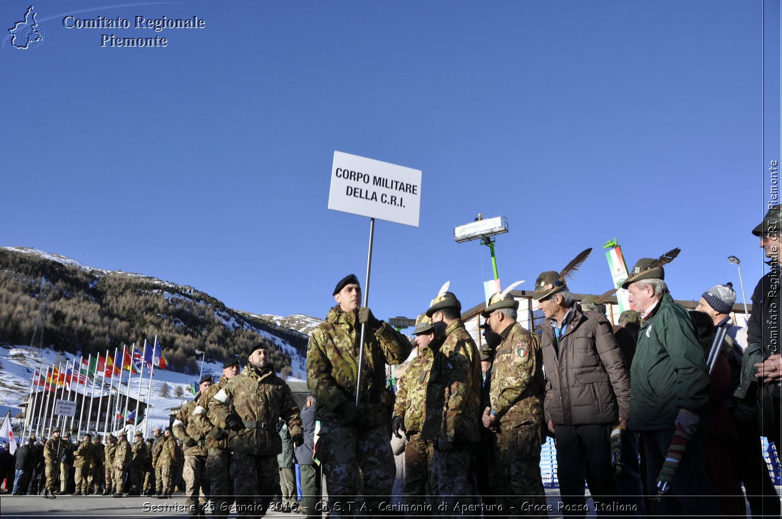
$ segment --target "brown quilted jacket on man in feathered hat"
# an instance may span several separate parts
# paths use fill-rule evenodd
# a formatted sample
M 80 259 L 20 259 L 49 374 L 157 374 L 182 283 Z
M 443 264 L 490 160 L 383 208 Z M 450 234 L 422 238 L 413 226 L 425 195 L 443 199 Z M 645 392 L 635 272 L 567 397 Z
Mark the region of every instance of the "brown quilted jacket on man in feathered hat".
M 600 313 L 572 306 L 565 335 L 543 323 L 546 423 L 613 424 L 630 414 L 630 376 L 611 324 Z

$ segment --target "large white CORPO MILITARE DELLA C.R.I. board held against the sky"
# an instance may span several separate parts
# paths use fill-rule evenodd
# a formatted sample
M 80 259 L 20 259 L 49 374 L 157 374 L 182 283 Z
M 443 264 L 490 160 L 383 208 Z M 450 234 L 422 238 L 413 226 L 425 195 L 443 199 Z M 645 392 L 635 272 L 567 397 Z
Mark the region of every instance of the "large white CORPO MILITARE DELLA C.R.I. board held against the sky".
M 418 227 L 421 170 L 334 152 L 328 209 Z

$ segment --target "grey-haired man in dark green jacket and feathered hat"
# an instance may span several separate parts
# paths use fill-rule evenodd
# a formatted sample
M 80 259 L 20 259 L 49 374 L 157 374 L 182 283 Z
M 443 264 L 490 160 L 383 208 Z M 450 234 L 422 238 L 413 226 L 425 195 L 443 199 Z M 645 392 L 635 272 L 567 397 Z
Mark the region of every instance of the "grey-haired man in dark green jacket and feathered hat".
M 650 494 L 657 490 L 652 485 L 674 433 L 690 437 L 671 491 L 659 501 L 651 500 L 655 516 L 719 517 L 714 490 L 703 470 L 700 425 L 708 413 L 708 370 L 687 310 L 673 302 L 663 281 L 662 265 L 670 259 L 669 253 L 640 259 L 622 283 L 642 320 L 630 371 L 630 428 L 640 431 L 644 439 Z

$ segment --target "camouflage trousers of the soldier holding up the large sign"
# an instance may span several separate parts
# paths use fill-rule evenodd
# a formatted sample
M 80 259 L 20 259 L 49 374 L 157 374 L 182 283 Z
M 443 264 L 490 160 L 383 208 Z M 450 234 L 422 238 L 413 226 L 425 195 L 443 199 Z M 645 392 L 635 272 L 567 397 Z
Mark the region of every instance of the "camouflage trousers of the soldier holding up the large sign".
M 323 422 L 316 450 L 326 477 L 329 517 L 353 515 L 357 511 L 353 501 L 360 492 L 365 505 L 362 513 L 378 510 L 380 503 L 389 501 L 396 464 L 386 424 L 357 429 Z

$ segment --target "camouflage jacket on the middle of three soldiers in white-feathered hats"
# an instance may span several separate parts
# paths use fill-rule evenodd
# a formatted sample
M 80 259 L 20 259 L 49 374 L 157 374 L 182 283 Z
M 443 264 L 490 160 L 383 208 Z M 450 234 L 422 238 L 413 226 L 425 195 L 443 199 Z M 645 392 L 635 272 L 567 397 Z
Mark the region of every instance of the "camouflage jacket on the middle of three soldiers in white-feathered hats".
M 477 442 L 483 427 L 481 382 L 478 347 L 457 319 L 446 328 L 443 345 L 434 354 L 421 437 L 433 442 L 442 438 L 459 446 Z

